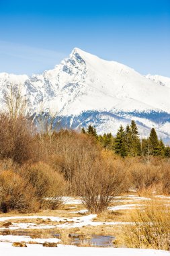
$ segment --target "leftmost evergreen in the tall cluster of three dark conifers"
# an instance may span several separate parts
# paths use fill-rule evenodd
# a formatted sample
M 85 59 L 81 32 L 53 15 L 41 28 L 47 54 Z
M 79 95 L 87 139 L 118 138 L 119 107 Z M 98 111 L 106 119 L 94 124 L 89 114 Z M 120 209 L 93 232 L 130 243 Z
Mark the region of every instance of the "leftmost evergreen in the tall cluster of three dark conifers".
M 115 138 L 115 153 L 122 156 L 123 158 L 127 156 L 126 152 L 126 142 L 125 142 L 125 131 L 122 125 L 118 129 L 118 133 Z

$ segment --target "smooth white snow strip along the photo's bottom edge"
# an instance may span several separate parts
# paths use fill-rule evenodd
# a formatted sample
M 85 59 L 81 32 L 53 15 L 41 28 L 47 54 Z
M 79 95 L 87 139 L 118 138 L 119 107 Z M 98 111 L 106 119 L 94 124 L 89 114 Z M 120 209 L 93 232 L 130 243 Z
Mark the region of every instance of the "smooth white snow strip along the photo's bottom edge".
M 44 248 L 42 245 L 28 245 L 27 248 L 12 247 L 10 243 L 0 243 L 1 255 L 6 256 L 168 256 L 167 251 L 126 249 L 126 248 L 94 248 L 58 245 L 57 248 Z

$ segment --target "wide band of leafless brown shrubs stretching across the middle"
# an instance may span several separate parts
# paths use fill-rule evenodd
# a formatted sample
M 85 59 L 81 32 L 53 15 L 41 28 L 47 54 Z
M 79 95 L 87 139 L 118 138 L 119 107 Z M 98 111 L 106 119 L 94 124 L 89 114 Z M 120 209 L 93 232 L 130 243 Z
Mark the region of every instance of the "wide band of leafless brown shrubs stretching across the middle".
M 25 117 L 0 115 L 1 212 L 56 209 L 78 195 L 91 213 L 134 188 L 170 193 L 169 158 L 121 158 L 94 136 L 61 130 L 37 133 Z

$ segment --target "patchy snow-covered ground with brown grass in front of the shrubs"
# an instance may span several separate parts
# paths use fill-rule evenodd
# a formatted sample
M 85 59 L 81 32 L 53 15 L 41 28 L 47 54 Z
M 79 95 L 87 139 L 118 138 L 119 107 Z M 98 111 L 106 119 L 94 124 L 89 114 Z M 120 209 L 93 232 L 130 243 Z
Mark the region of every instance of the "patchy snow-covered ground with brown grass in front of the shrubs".
M 170 197 L 157 196 L 157 199 L 163 199 L 165 201 L 169 201 L 170 203 Z M 148 200 L 151 199 L 147 197 L 138 197 L 136 195 L 115 197 L 113 204 L 108 208 L 108 210 L 112 213 L 125 213 L 129 210 L 133 210 L 135 207 L 144 207 L 146 201 Z M 57 233 L 61 231 L 65 232 L 65 234 L 68 236 L 67 232 L 71 232 L 70 230 L 74 230 L 74 232 L 75 230 L 83 232 L 84 228 L 91 228 L 93 232 L 93 229 L 97 227 L 101 228 L 101 230 L 109 227 L 110 230 L 114 231 L 118 226 L 123 226 L 124 224 L 133 224 L 132 222 L 126 221 L 126 219 L 121 220 L 121 218 L 114 221 L 100 220 L 97 214 L 89 214 L 89 212 L 82 205 L 81 200 L 76 197 L 63 197 L 63 201 L 65 202 L 65 207 L 62 210 L 50 212 L 44 211 L 37 215 L 0 215 L 1 255 L 170 255 L 170 253 L 167 251 L 114 248 L 114 243 L 110 243 L 109 248 L 101 248 L 97 247 L 97 245 L 91 245 L 92 247 L 88 247 L 88 245 L 81 247 L 82 245 L 79 245 L 79 247 L 77 247 L 72 243 L 65 245 L 65 241 L 63 242 L 62 238 L 59 236 L 32 237 L 30 234 L 34 234 L 34 232 L 45 232 L 46 230 L 49 230 L 49 234 L 52 234 L 52 232 Z M 13 247 L 12 243 L 14 242 L 25 242 L 28 247 Z M 42 244 L 45 242 L 57 243 L 58 247 L 42 247 Z

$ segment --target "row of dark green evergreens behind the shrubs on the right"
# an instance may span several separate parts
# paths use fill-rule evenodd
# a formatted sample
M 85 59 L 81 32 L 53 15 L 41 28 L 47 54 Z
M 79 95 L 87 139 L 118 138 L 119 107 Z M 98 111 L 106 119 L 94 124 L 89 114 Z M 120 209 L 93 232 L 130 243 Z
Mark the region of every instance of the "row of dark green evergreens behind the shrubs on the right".
M 134 121 L 126 128 L 120 125 L 116 137 L 112 133 L 97 135 L 95 127 L 89 125 L 82 133 L 95 137 L 101 146 L 107 150 L 113 150 L 117 155 L 122 156 L 162 156 L 170 157 L 170 147 L 165 146 L 162 139 L 159 139 L 155 128 L 151 129 L 150 135 L 146 139 L 140 139 L 138 127 Z

